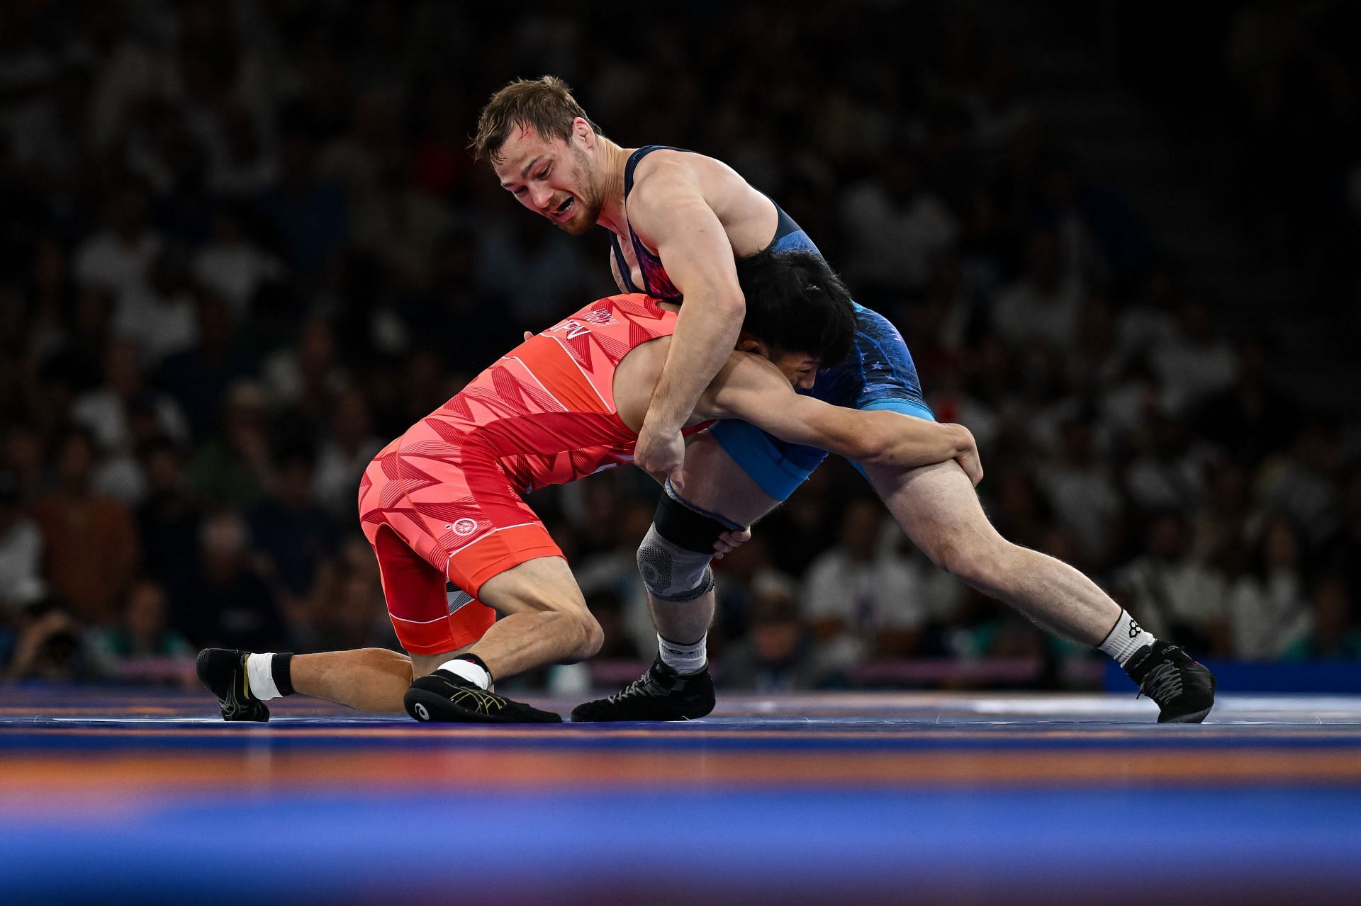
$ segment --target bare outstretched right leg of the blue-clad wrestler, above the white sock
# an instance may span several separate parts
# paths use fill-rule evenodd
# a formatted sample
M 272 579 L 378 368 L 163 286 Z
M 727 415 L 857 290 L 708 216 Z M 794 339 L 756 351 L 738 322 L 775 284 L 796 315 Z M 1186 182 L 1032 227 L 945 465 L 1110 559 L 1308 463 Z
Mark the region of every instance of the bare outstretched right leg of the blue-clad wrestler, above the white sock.
M 1120 619 L 1120 605 L 1086 575 L 1002 537 L 957 463 L 906 472 L 866 467 L 866 475 L 936 566 L 1045 630 L 1096 648 Z

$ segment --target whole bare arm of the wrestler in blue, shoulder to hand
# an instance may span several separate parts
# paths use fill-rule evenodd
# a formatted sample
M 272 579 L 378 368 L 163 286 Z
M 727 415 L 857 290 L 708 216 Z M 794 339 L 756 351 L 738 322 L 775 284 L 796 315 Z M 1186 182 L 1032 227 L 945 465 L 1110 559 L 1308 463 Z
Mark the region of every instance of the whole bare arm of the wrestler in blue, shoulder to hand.
M 659 162 L 634 186 L 629 218 L 685 295 L 638 443 L 644 465 L 672 472 L 675 480 L 679 430 L 736 346 L 746 302 L 727 231 L 685 170 Z

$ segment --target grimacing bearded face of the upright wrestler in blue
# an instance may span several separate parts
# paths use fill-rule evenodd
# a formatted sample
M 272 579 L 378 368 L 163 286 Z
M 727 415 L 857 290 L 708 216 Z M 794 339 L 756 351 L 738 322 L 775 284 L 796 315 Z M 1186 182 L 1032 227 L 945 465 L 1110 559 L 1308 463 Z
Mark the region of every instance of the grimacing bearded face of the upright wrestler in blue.
M 491 169 L 520 204 L 559 230 L 581 235 L 595 226 L 603 204 L 588 154 L 593 147 L 595 132 L 580 117 L 573 120 L 570 140 L 544 139 L 517 125 L 498 148 L 501 162 L 493 162 Z

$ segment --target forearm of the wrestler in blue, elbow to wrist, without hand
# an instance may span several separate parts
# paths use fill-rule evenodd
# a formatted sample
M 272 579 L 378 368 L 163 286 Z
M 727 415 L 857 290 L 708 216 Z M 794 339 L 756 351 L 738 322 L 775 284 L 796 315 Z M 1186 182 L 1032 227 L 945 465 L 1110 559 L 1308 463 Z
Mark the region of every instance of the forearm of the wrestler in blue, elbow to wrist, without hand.
M 657 431 L 678 431 L 700 396 L 727 363 L 742 332 L 742 299 L 691 301 L 680 307 L 667 363 L 652 392 L 646 423 Z

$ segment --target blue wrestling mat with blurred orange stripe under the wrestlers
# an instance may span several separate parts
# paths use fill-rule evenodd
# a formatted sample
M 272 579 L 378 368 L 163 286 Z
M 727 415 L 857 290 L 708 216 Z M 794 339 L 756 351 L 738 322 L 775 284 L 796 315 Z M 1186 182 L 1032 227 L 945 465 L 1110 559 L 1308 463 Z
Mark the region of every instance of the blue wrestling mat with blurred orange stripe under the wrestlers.
M 661 726 L 212 714 L 8 690 L 0 902 L 1361 902 L 1346 697 L 1226 698 L 1200 726 L 1066 695 L 729 697 Z

